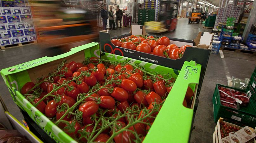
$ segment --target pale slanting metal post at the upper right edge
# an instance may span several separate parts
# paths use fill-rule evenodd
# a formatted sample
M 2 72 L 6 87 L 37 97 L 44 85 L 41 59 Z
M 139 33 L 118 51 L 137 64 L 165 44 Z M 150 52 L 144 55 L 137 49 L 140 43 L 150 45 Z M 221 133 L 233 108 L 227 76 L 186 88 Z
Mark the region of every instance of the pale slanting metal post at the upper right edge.
M 243 33 L 243 37 L 244 37 L 243 42 L 244 43 L 246 42 L 248 34 L 249 34 L 249 32 L 251 30 L 251 27 L 254 24 L 255 20 L 256 20 L 256 1 L 253 1 L 253 6 L 252 6 L 252 9 L 250 11 L 250 14 L 249 14 L 246 26 L 245 26 L 245 30 L 244 30 L 244 33 Z

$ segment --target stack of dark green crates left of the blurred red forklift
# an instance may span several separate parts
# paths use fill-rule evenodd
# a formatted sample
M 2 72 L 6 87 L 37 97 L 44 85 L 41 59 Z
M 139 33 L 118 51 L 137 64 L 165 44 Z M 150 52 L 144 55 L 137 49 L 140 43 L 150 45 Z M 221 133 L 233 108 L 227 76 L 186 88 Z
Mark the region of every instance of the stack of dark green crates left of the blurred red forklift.
M 144 25 L 148 21 L 155 21 L 155 9 L 139 9 L 138 25 Z

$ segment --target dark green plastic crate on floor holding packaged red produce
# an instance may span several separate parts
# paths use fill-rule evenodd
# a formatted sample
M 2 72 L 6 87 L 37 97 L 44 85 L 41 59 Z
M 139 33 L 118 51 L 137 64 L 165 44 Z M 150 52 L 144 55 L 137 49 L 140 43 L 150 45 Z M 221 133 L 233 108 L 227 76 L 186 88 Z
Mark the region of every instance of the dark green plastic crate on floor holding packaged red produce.
M 256 126 L 256 108 L 255 108 L 255 101 L 254 98 L 255 96 L 252 95 L 252 99 L 250 99 L 250 102 L 246 107 L 240 107 L 239 110 L 236 110 L 234 108 L 230 108 L 227 106 L 222 106 L 221 105 L 221 100 L 220 100 L 220 93 L 218 86 L 238 90 L 241 92 L 247 92 L 246 90 L 241 90 L 241 89 L 236 89 L 233 87 L 228 87 L 225 85 L 221 84 L 216 84 L 214 94 L 213 94 L 213 107 L 214 107 L 214 122 L 217 123 L 218 119 L 220 117 L 222 118 L 232 118 L 235 120 L 240 121 L 241 123 L 245 123 L 246 125 L 250 127 L 255 127 Z

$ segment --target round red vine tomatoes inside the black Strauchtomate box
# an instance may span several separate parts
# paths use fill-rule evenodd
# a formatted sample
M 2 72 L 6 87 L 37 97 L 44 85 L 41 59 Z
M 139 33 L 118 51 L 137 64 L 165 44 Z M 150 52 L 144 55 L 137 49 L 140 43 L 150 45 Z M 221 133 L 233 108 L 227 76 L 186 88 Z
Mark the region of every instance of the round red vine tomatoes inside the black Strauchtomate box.
M 165 36 L 157 38 L 154 36 L 137 37 L 131 35 L 120 40 L 112 39 L 111 43 L 118 47 L 136 50 L 148 54 L 154 54 L 175 60 L 182 58 L 186 48 L 189 46 L 184 45 L 179 48 L 175 44 L 170 44 L 170 39 Z

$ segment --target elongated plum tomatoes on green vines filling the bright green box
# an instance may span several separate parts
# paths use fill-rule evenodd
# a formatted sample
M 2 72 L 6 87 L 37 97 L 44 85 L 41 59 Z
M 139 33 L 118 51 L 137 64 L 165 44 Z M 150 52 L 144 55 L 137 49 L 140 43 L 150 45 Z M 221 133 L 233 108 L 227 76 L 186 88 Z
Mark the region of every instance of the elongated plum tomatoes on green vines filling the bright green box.
M 129 143 L 143 141 L 174 81 L 129 62 L 92 57 L 63 62 L 20 92 L 79 142 Z M 186 98 L 193 94 L 188 90 Z

